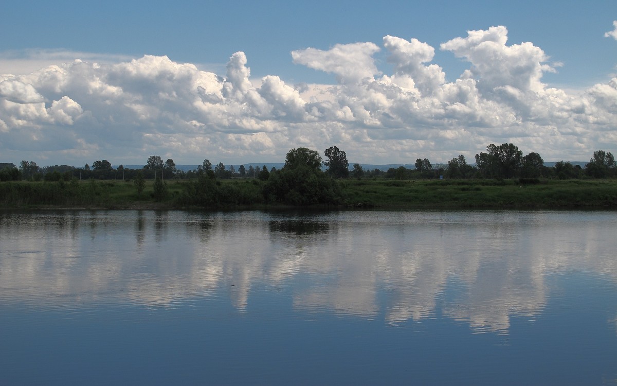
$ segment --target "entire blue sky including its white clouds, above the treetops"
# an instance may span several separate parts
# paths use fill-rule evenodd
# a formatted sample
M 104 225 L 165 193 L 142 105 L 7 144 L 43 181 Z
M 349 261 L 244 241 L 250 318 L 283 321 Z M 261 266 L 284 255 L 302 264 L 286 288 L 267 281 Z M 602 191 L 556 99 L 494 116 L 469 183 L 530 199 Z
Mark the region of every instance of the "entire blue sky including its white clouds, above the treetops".
M 617 154 L 617 2 L 0 6 L 0 162 Z

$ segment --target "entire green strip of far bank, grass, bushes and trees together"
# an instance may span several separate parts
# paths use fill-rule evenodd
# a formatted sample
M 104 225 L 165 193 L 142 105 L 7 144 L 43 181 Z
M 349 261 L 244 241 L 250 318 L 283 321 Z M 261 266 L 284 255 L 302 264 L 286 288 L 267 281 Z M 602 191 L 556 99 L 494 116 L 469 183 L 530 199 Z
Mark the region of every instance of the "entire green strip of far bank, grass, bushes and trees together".
M 617 208 L 611 153 L 596 151 L 582 168 L 568 162 L 546 167 L 539 154 L 523 156 L 512 144 L 489 145 L 487 151 L 476 154 L 473 166 L 458 156 L 447 166 L 418 158 L 415 169 L 365 171 L 358 164 L 349 170 L 345 152 L 336 146 L 326 149 L 325 162 L 317 151 L 297 148 L 280 170 L 264 166 L 251 175 L 243 166 L 236 172 L 206 159 L 189 177 L 171 159 L 156 156 L 143 169 L 112 169 L 108 161 L 95 161 L 87 179 L 76 177 L 88 175 L 86 168 L 41 174 L 34 162 L 22 161 L 19 169 L 0 170 L 0 207 Z M 118 180 L 120 172 L 124 178 Z

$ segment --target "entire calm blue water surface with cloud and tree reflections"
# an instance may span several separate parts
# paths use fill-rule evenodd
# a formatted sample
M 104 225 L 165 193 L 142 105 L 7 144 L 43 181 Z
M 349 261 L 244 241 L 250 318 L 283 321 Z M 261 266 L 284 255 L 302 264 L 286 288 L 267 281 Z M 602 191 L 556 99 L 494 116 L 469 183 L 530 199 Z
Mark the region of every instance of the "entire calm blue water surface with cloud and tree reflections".
M 0 385 L 617 385 L 616 252 L 616 212 L 0 212 Z

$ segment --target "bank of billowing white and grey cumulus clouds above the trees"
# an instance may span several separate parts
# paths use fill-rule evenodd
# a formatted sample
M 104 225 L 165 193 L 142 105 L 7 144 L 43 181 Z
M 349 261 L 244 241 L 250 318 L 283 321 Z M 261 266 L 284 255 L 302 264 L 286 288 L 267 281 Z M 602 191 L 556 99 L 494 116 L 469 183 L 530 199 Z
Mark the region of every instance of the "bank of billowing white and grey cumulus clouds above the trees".
M 140 164 L 152 154 L 186 164 L 280 162 L 291 148 L 333 145 L 351 162 L 447 162 L 504 142 L 546 161 L 615 153 L 617 78 L 576 94 L 550 88 L 542 75 L 561 64 L 507 40 L 498 26 L 442 43 L 470 64 L 453 82 L 431 63 L 435 48 L 395 36 L 383 48 L 291 52 L 295 64 L 333 74 L 333 85 L 252 79 L 244 52 L 224 75 L 167 56 L 0 75 L 0 162 Z M 390 73 L 373 57 L 382 50 Z

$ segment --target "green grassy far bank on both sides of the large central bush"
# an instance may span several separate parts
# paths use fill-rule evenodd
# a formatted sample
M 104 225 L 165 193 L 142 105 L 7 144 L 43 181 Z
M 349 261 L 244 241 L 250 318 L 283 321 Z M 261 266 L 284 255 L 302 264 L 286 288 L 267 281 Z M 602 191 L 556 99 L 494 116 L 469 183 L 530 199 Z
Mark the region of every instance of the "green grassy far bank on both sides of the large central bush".
M 340 180 L 342 206 L 384 209 L 617 208 L 617 180 Z M 186 208 L 183 180 L 154 181 L 138 195 L 133 182 L 2 182 L 2 208 Z M 222 180 L 209 209 L 271 208 L 263 182 Z

